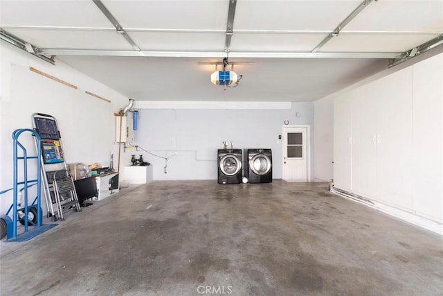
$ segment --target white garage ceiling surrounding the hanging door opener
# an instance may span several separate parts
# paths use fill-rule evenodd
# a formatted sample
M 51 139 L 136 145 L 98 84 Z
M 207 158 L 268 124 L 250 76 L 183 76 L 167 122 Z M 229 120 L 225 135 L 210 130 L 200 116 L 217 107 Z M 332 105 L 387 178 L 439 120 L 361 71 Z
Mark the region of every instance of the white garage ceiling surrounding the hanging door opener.
M 228 0 L 102 0 L 141 52 L 91 0 L 0 0 L 0 28 L 140 101 L 314 101 L 443 34 L 443 0 L 368 1 L 318 49 L 357 58 L 289 58 L 311 56 L 362 2 L 237 0 L 229 61 L 253 63 L 236 64 L 242 80 L 226 90 L 199 62 L 226 56 Z

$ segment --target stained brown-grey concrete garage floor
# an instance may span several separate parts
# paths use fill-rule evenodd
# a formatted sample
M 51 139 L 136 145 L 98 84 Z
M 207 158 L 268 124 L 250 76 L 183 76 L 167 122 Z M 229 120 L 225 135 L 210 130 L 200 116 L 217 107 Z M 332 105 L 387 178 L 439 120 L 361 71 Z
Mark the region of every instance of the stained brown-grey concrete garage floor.
M 443 295 L 443 237 L 326 184 L 152 182 L 1 246 L 1 295 Z

